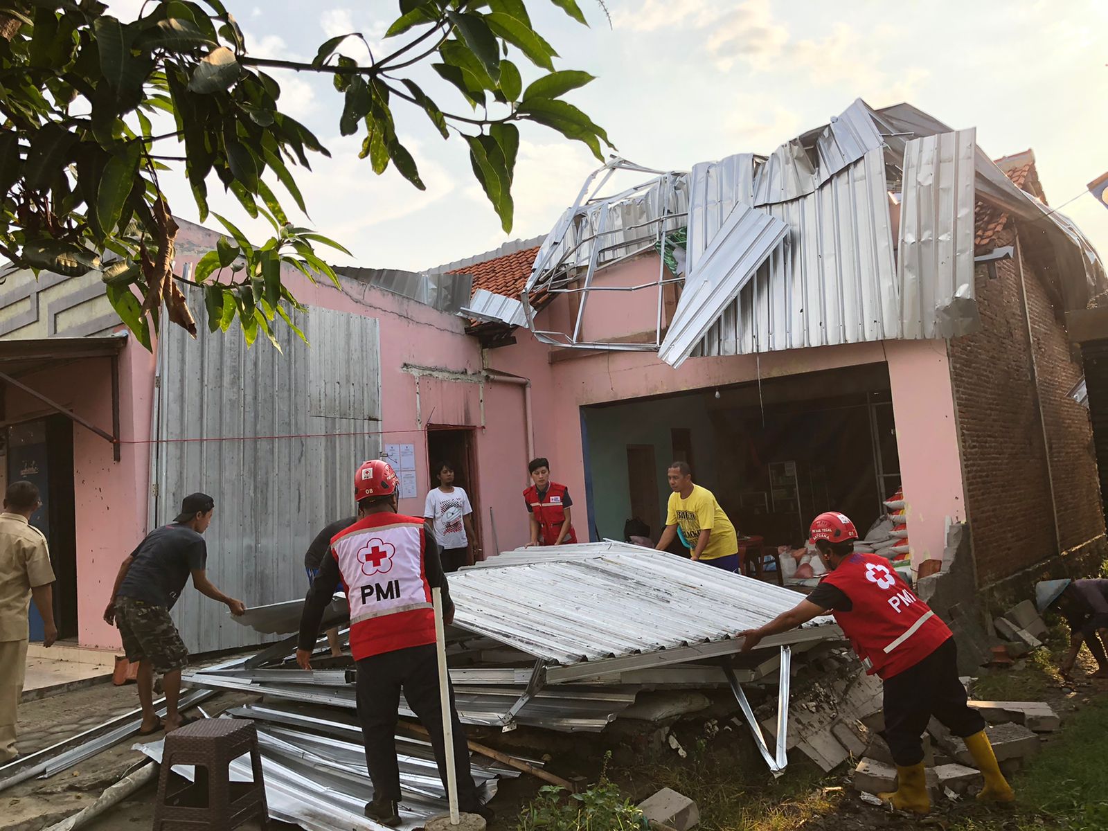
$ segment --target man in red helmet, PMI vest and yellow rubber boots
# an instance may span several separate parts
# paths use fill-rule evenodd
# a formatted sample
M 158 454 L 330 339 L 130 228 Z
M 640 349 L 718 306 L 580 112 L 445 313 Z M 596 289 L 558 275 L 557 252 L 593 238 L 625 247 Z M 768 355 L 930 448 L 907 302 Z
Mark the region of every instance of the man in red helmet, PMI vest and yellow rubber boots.
M 830 611 L 866 673 L 884 683 L 884 737 L 896 762 L 897 787 L 879 794 L 881 799 L 906 811 L 931 810 L 921 737 L 934 716 L 965 740 L 984 774 L 985 787 L 977 799 L 1010 802 L 1014 794 L 985 736 L 985 719 L 966 704 L 957 649 L 946 624 L 912 593 L 888 560 L 854 553 L 858 532 L 844 515 L 820 514 L 810 536 L 827 576 L 794 608 L 765 626 L 740 632 L 737 637 L 746 638 L 742 652 L 767 635 L 787 632 Z

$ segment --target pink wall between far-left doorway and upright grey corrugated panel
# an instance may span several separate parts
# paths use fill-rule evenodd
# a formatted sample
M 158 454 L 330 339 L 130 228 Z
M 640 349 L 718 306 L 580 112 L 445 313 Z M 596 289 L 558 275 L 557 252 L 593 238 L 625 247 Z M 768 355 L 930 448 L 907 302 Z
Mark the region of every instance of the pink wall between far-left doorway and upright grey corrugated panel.
M 21 380 L 111 432 L 107 358 L 85 358 Z M 129 340 L 120 356 L 120 435 L 124 442 L 150 437 L 153 380 L 153 357 Z M 16 389 L 8 390 L 6 406 L 9 420 L 43 410 L 41 402 Z M 119 632 L 101 616 L 120 563 L 145 533 L 148 480 L 148 445 L 123 443 L 116 463 L 109 442 L 80 424 L 73 425 L 78 639 L 84 646 L 119 645 Z

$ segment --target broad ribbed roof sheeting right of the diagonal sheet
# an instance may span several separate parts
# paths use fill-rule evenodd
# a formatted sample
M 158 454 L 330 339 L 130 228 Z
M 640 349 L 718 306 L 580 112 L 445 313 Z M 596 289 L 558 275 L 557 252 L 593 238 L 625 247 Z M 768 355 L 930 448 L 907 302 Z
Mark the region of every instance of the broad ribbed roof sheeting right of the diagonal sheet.
M 729 304 L 694 355 L 751 355 L 901 336 L 884 152 L 814 193 L 762 209 L 784 245 Z

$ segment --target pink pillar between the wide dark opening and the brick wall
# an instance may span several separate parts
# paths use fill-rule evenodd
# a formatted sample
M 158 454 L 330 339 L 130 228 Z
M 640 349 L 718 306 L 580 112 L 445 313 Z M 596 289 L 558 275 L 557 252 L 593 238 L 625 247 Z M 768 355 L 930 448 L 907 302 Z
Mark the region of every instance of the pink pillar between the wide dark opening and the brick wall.
M 946 519 L 965 520 L 962 458 L 946 342 L 891 340 L 889 378 L 912 562 L 942 560 Z

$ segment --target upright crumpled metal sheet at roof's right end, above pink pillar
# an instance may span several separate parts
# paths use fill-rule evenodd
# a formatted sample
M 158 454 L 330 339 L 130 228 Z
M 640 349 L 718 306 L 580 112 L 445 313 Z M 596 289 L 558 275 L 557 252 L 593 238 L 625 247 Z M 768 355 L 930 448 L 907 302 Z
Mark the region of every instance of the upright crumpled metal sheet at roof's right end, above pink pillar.
M 953 338 L 981 327 L 974 289 L 976 131 L 905 143 L 896 281 L 901 337 Z

